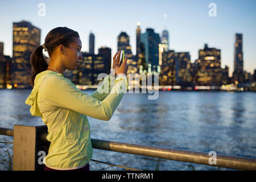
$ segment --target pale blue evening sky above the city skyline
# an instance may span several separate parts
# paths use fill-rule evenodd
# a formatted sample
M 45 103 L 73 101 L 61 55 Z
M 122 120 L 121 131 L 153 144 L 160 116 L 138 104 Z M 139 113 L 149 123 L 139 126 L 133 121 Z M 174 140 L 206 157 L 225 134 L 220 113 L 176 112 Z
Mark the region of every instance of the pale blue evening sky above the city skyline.
M 58 26 L 78 31 L 82 51 L 88 51 L 92 31 L 96 53 L 101 46 L 108 46 L 112 48 L 112 55 L 117 51 L 118 34 L 125 31 L 135 54 L 139 21 L 142 33 L 150 27 L 162 35 L 166 26 L 170 48 L 190 52 L 192 63 L 205 43 L 221 49 L 221 67 L 228 65 L 230 75 L 234 67 L 235 34 L 242 33 L 244 68 L 251 73 L 256 69 L 255 0 L 0 1 L 0 42 L 5 43 L 5 55 L 12 56 L 13 22 L 21 20 L 28 20 L 42 30 L 41 43 L 47 33 Z M 46 16 L 38 16 L 39 3 L 46 5 Z M 208 15 L 209 3 L 216 4 L 216 17 Z

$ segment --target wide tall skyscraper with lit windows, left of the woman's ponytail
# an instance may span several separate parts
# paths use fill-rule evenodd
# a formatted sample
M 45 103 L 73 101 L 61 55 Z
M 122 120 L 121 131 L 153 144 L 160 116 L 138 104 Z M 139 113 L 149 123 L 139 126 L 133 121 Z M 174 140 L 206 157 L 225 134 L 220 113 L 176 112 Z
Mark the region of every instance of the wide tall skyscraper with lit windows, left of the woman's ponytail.
M 13 23 L 13 74 L 14 88 L 30 88 L 32 51 L 40 46 L 41 31 L 30 22 Z

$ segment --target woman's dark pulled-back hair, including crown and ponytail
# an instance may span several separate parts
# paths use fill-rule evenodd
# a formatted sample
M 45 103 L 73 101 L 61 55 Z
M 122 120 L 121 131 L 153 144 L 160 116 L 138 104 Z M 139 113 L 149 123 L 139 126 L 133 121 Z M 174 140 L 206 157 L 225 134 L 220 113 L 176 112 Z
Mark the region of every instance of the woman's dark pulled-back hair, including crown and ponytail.
M 79 33 L 70 28 L 53 28 L 46 35 L 46 39 L 44 39 L 44 46 L 47 48 L 48 55 L 51 57 L 54 49 L 60 44 L 68 47 L 70 43 L 74 42 L 74 38 L 79 38 Z M 34 49 L 30 57 L 30 63 L 32 66 L 31 86 L 34 87 L 36 75 L 46 71 L 48 68 L 48 64 L 43 55 L 43 46 L 38 46 Z

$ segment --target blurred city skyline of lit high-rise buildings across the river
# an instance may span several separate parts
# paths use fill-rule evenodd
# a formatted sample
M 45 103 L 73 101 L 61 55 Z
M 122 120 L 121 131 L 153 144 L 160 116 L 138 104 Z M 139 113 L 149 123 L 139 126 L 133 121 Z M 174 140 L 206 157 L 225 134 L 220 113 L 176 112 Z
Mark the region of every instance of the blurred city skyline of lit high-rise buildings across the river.
M 126 32 L 118 35 L 118 51 L 125 49 L 127 57 L 127 77 L 129 73 L 144 73 L 149 75 L 159 74 L 156 84 L 159 86 L 187 86 L 186 89 L 198 89 L 200 86 L 213 89 L 228 89 L 230 86 L 238 85 L 243 90 L 254 88 L 255 79 L 250 73 L 243 72 L 243 52 L 242 34 L 236 34 L 234 44 L 234 72 L 233 77 L 229 77 L 229 67 L 221 68 L 221 49 L 204 45 L 199 50 L 199 57 L 195 63 L 191 63 L 189 52 L 175 52 L 167 47 L 168 40 L 160 43 L 160 36 L 152 28 L 147 28 L 146 33 L 140 34 L 140 23 L 137 27 L 137 55 L 132 55 L 130 38 Z M 0 84 L 1 88 L 28 88 L 30 84 L 31 64 L 30 55 L 32 51 L 42 51 L 40 45 L 41 30 L 33 26 L 30 22 L 22 21 L 13 23 L 13 58 L 3 55 L 3 43 L 0 44 Z M 164 31 L 163 31 L 164 32 Z M 168 34 L 168 31 L 166 32 Z M 163 35 L 164 36 L 164 35 Z M 163 38 L 162 36 L 162 38 Z M 141 38 L 138 38 L 141 37 Z M 163 39 L 162 39 L 163 40 Z M 48 42 L 47 42 L 48 43 Z M 167 43 L 167 44 L 166 44 Z M 167 51 L 164 49 L 167 48 Z M 97 85 L 97 76 L 100 73 L 109 74 L 112 62 L 111 49 L 102 47 L 98 49 L 98 54 L 94 52 L 94 35 L 90 34 L 89 53 L 82 52 L 82 62 L 74 71 L 65 72 L 65 77 L 78 85 Z M 43 53 L 43 52 L 42 52 Z M 49 61 L 49 59 L 47 59 Z M 47 67 L 47 64 L 45 64 Z M 255 72 L 255 70 L 254 70 Z M 33 73 L 32 73 L 33 74 Z M 139 76 L 139 75 L 138 75 Z M 255 75 L 254 75 L 255 76 Z M 142 80 L 141 80 L 142 81 Z M 141 81 L 131 81 L 132 85 L 142 85 Z M 199 87 L 197 87 L 199 86 Z M 207 86 L 207 87 L 205 87 Z M 217 86 L 217 87 L 216 87 Z M 235 87 L 236 87 L 235 86 Z M 201 87 L 200 87 L 201 88 Z M 233 88 L 233 87 L 232 87 Z M 240 91 L 238 88 L 238 91 Z M 236 88 L 234 88 L 236 89 Z

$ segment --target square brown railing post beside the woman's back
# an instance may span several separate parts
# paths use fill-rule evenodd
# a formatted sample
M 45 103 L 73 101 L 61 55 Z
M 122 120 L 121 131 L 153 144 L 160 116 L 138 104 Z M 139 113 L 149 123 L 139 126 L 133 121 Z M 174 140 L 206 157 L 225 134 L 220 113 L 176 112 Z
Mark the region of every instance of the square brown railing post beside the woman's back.
M 40 133 L 47 132 L 47 126 L 14 125 L 13 170 L 38 171 L 44 169 L 39 163 L 39 151 L 47 152 L 46 142 L 39 139 Z

